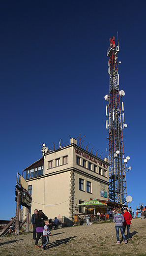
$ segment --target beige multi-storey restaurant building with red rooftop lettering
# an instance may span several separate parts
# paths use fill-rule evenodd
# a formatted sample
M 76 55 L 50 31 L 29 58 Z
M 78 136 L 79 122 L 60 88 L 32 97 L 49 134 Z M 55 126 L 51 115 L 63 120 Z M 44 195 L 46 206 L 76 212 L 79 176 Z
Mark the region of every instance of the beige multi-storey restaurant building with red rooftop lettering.
M 43 144 L 42 153 L 43 158 L 24 170 L 32 195 L 31 213 L 41 209 L 49 218 L 72 221 L 74 214 L 87 211 L 78 204 L 94 198 L 102 202 L 109 200 L 107 158 L 89 153 L 74 138 L 68 145 L 52 151 Z M 88 211 L 93 213 L 92 209 Z

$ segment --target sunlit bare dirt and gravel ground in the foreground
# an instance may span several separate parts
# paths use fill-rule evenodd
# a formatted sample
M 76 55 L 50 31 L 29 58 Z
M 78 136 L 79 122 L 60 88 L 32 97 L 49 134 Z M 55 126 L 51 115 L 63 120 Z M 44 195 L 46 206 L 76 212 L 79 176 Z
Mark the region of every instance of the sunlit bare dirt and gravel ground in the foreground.
M 0 237 L 0 256 L 144 256 L 146 219 L 133 219 L 132 240 L 117 245 L 114 223 L 72 226 L 52 230 L 48 250 L 34 248 L 32 233 Z M 121 238 L 121 235 L 120 235 Z M 38 245 L 41 244 L 41 239 Z

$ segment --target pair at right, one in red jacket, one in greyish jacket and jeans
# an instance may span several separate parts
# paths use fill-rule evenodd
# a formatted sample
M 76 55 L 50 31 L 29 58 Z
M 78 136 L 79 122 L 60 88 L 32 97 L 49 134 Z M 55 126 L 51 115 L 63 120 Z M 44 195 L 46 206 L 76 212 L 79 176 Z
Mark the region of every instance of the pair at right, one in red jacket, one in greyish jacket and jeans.
M 121 209 L 116 209 L 116 214 L 114 215 L 113 222 L 115 222 L 115 228 L 116 228 L 116 234 L 117 234 L 117 244 L 120 244 L 119 241 L 119 229 L 122 234 L 122 239 L 124 239 L 125 244 L 127 244 L 127 240 L 125 237 L 125 230 L 127 227 L 127 236 L 128 240 L 131 240 L 130 238 L 130 224 L 132 220 L 132 215 L 130 212 L 128 212 L 128 209 L 125 207 L 123 208 L 123 214 Z

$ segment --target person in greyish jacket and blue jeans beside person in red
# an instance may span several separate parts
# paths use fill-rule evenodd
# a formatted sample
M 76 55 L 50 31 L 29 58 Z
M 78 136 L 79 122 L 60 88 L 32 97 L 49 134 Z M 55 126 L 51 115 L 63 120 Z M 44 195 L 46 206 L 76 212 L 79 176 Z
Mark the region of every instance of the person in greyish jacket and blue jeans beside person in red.
M 122 234 L 122 237 L 124 239 L 125 244 L 127 244 L 126 237 L 124 235 L 124 230 L 123 230 L 123 222 L 124 222 L 124 217 L 122 215 L 122 212 L 120 209 L 116 209 L 116 215 L 114 215 L 113 222 L 115 222 L 115 227 L 116 227 L 116 234 L 117 234 L 117 244 L 120 244 L 119 241 L 119 229 Z

